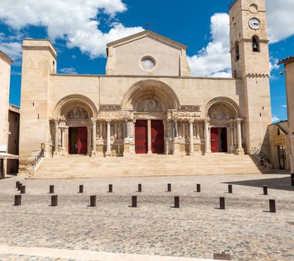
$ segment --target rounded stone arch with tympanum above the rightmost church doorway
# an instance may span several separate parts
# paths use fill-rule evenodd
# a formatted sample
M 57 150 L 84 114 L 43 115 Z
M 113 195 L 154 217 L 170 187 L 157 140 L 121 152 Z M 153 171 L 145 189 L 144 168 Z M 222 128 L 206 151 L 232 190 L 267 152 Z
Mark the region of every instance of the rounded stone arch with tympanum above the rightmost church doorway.
M 216 97 L 205 106 L 206 117 L 214 119 L 236 119 L 241 118 L 238 104 L 227 97 Z

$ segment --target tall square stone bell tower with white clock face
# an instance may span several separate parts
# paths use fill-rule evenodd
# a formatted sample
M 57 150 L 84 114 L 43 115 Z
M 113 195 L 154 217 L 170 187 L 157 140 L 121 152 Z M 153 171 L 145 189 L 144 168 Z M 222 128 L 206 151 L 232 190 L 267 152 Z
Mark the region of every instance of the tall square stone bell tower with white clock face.
M 243 142 L 269 155 L 270 60 L 265 0 L 234 0 L 230 6 L 232 76 L 243 82 Z M 242 103 L 241 103 L 242 104 Z

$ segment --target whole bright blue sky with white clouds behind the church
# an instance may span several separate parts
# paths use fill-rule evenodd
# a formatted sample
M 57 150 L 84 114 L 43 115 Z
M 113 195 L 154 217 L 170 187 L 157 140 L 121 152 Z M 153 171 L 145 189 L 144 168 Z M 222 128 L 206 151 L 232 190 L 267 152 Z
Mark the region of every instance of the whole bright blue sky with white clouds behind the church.
M 1 0 L 0 50 L 15 60 L 10 103 L 20 105 L 23 38 L 50 38 L 58 49 L 58 73 L 105 74 L 105 44 L 143 30 L 146 22 L 150 30 L 188 45 L 193 76 L 229 76 L 229 2 Z M 266 0 L 272 65 L 294 55 L 294 1 L 276 3 Z M 287 117 L 282 69 L 273 66 L 271 71 L 275 120 Z

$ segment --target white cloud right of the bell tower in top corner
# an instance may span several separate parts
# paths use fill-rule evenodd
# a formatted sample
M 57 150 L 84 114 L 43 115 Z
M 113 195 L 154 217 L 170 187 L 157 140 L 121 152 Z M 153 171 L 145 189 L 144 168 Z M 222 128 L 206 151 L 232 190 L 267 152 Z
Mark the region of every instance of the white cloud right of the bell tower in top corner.
M 266 10 L 270 43 L 273 44 L 294 35 L 293 0 L 266 0 Z

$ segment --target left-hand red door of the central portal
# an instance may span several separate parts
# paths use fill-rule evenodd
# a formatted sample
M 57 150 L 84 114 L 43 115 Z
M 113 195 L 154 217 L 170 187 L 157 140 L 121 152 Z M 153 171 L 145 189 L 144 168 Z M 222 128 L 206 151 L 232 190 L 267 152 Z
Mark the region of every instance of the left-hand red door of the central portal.
M 139 120 L 135 124 L 135 152 L 137 154 L 146 154 L 148 152 L 147 142 L 147 121 Z

